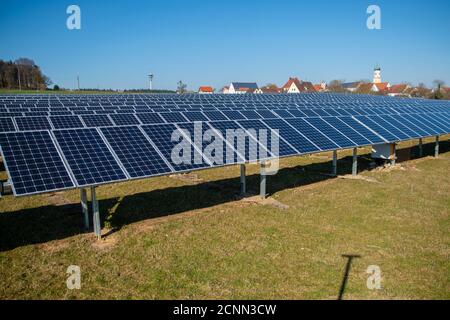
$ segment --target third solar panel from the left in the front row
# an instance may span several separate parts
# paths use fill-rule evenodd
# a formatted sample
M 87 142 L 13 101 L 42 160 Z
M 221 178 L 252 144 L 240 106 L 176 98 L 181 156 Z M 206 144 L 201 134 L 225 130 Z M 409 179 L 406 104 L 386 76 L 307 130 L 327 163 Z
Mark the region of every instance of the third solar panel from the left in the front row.
M 172 172 L 138 127 L 100 129 L 132 178 Z

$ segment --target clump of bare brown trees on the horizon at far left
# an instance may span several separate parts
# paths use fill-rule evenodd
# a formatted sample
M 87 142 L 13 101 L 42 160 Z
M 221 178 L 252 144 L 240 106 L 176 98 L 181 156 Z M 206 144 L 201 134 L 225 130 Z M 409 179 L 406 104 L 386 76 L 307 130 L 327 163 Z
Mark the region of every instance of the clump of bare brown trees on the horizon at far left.
M 52 82 L 40 67 L 28 58 L 15 61 L 0 59 L 0 88 L 19 90 L 45 90 Z

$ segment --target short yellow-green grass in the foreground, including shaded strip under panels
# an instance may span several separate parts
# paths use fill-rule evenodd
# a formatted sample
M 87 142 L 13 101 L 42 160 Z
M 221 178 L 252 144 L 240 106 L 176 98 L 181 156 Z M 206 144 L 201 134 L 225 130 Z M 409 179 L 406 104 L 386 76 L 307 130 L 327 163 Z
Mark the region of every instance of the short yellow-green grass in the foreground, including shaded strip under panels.
M 330 154 L 284 159 L 264 203 L 239 199 L 238 167 L 103 186 L 102 241 L 83 232 L 77 190 L 2 197 L 0 299 L 337 299 L 343 255 L 360 256 L 344 299 L 450 299 L 448 139 L 439 159 L 430 143 L 394 169 L 362 155 L 357 180 L 323 174 Z M 256 194 L 258 167 L 247 174 Z M 81 290 L 66 288 L 69 265 Z

